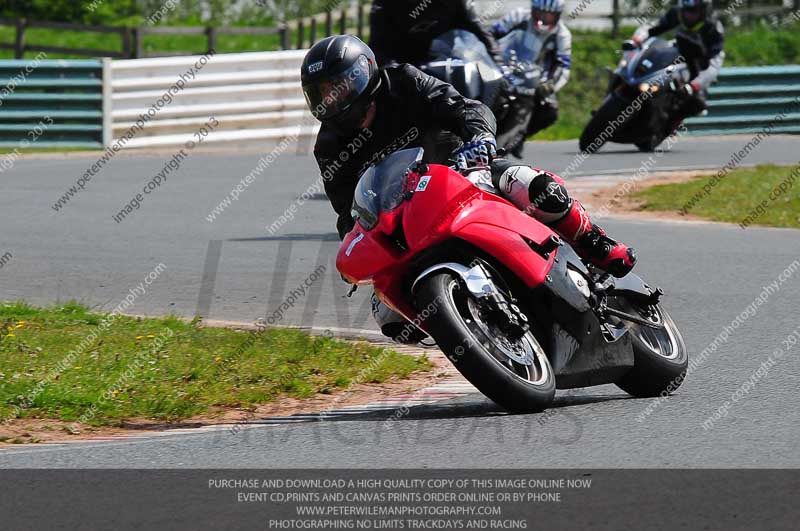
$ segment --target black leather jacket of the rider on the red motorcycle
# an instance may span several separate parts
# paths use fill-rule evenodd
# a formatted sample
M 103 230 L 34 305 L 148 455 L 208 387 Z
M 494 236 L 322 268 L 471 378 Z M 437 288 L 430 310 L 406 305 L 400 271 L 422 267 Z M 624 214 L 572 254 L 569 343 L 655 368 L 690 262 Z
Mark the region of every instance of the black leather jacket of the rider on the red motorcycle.
M 411 65 L 389 66 L 380 75 L 377 114 L 370 128 L 344 137 L 323 125 L 314 146 L 342 238 L 353 228 L 353 194 L 370 165 L 413 147 L 425 149 L 426 161 L 446 164 L 464 142 L 484 134 L 494 137 L 497 128 L 488 107 Z

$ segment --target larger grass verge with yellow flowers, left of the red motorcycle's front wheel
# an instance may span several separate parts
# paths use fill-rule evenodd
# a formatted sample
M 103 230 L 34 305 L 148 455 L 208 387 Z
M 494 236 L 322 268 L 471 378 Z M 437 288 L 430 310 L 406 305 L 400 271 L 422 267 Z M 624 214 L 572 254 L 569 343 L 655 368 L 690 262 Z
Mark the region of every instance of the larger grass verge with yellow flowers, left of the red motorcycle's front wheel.
M 176 421 L 217 406 L 251 408 L 431 368 L 424 357 L 296 330 L 259 334 L 170 317 L 118 317 L 104 326 L 106 318 L 75 303 L 0 305 L 0 419 Z M 86 341 L 92 334 L 96 339 Z

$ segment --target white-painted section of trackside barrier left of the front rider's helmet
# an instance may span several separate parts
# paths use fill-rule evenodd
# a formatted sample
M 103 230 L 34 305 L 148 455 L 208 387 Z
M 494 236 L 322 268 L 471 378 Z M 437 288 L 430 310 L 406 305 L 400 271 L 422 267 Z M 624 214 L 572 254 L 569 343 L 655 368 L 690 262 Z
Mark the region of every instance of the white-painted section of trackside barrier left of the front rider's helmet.
M 205 142 L 311 136 L 319 127 L 300 91 L 304 50 L 218 54 L 125 147 L 183 145 L 215 117 Z M 134 126 L 199 56 L 112 61 L 114 137 Z

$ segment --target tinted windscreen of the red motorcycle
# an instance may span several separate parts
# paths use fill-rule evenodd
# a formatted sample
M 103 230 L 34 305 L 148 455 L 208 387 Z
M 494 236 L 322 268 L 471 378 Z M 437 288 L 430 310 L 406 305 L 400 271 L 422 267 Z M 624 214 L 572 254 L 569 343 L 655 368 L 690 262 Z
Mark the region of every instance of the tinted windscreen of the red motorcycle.
M 393 153 L 361 175 L 353 195 L 353 219 L 365 230 L 378 224 L 381 212 L 388 212 L 403 202 L 408 169 L 422 160 L 422 148 Z

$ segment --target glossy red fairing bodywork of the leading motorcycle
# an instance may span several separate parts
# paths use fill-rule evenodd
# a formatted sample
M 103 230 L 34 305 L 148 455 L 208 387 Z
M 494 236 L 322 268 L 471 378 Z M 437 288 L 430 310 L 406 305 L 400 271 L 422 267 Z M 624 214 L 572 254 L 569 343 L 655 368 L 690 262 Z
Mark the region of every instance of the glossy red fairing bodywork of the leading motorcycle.
M 336 267 L 348 281 L 374 284 L 384 302 L 413 317 L 400 280 L 420 252 L 454 238 L 492 255 L 531 288 L 545 281 L 556 253 L 545 259 L 524 239 L 544 244 L 554 235 L 545 225 L 446 166 L 410 173 L 406 190 L 410 198 L 382 213 L 372 230 L 357 222 L 345 237 Z M 396 236 L 400 227 L 402 245 Z

